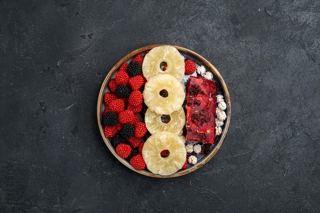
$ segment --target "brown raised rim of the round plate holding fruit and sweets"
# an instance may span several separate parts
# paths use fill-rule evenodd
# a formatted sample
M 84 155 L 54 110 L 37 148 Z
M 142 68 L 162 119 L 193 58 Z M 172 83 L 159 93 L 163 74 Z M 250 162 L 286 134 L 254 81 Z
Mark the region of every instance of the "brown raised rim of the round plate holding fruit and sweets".
M 154 47 L 157 46 L 164 46 L 164 45 L 170 45 L 173 46 L 175 48 L 177 48 L 180 52 L 181 55 L 183 55 L 186 58 L 192 59 L 193 61 L 195 61 L 198 65 L 203 65 L 207 71 L 211 71 L 214 75 L 214 79 L 215 81 L 220 85 L 220 92 L 221 94 L 224 96 L 224 101 L 227 105 L 227 108 L 225 110 L 226 113 L 226 119 L 224 121 L 224 125 L 223 125 L 223 131 L 222 134 L 218 137 L 216 137 L 216 142 L 214 145 L 211 146 L 210 151 L 208 152 L 207 155 L 201 156 L 201 159 L 199 159 L 198 163 L 195 165 L 189 165 L 186 169 L 183 170 L 179 170 L 176 173 L 173 173 L 171 175 L 158 175 L 158 174 L 153 174 L 148 170 L 136 170 L 134 169 L 130 163 L 128 161 L 126 161 L 125 159 L 123 159 L 122 157 L 120 157 L 117 153 L 115 148 L 112 147 L 112 145 L 110 144 L 110 141 L 108 138 L 106 138 L 104 136 L 104 127 L 103 127 L 103 118 L 102 118 L 102 113 L 104 110 L 104 103 L 103 103 L 103 96 L 104 93 L 109 91 L 108 88 L 108 83 L 110 81 L 111 78 L 113 78 L 116 74 L 116 72 L 119 70 L 120 66 L 125 63 L 125 62 L 130 62 L 130 60 L 132 58 L 134 58 L 136 55 L 138 54 L 142 54 L 144 55 L 144 53 Z M 193 172 L 197 169 L 199 169 L 200 167 L 202 167 L 204 164 L 208 163 L 210 161 L 210 159 L 218 152 L 218 150 L 220 149 L 229 125 L 230 125 L 230 119 L 231 119 L 231 101 L 230 101 L 230 95 L 227 89 L 226 84 L 224 83 L 224 80 L 222 78 L 222 76 L 220 75 L 219 71 L 216 69 L 216 67 L 214 65 L 212 65 L 207 59 L 203 58 L 201 55 L 197 54 L 196 52 L 185 48 L 185 47 L 181 47 L 181 46 L 177 46 L 177 45 L 171 45 L 171 44 L 154 44 L 154 45 L 148 45 L 139 49 L 136 49 L 132 52 L 130 52 L 128 55 L 126 55 L 124 58 L 122 58 L 115 66 L 113 66 L 111 68 L 111 70 L 108 72 L 108 74 L 106 75 L 100 92 L 99 92 L 99 96 L 98 96 L 98 102 L 97 102 L 97 119 L 98 119 L 98 126 L 99 126 L 99 130 L 102 136 L 102 139 L 104 141 L 104 143 L 106 144 L 106 146 L 108 147 L 108 149 L 110 150 L 110 152 L 126 167 L 128 167 L 129 169 L 149 176 L 149 177 L 158 177 L 158 178 L 170 178 L 170 177 L 178 177 L 178 176 L 182 176 L 185 174 L 188 174 L 190 172 Z

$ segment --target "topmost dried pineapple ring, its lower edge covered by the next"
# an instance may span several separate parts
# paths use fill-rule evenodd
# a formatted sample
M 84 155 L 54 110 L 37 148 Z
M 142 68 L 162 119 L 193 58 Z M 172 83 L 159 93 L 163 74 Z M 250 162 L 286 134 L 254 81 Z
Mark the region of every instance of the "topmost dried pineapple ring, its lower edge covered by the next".
M 163 62 L 167 64 L 165 71 L 160 68 Z M 173 46 L 154 47 L 143 60 L 142 72 L 147 81 L 157 74 L 170 74 L 181 82 L 185 74 L 185 60 Z

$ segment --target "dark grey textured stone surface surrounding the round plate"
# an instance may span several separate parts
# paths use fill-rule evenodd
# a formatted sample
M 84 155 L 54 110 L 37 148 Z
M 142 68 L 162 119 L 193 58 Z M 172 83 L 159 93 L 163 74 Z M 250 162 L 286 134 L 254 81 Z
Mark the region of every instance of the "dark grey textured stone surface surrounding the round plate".
M 317 0 L 0 0 L 0 211 L 319 212 L 319 11 Z M 123 166 L 96 121 L 108 70 L 156 43 L 209 59 L 232 101 L 217 155 L 171 179 Z

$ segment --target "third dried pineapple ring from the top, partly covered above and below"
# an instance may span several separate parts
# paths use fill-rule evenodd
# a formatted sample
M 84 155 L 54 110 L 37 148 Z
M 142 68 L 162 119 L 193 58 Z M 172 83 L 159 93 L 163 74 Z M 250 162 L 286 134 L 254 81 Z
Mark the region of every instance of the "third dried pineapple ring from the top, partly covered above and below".
M 186 123 L 184 108 L 181 106 L 179 110 L 174 111 L 170 115 L 157 114 L 148 108 L 145 114 L 145 123 L 152 135 L 158 131 L 169 131 L 175 135 L 179 135 Z

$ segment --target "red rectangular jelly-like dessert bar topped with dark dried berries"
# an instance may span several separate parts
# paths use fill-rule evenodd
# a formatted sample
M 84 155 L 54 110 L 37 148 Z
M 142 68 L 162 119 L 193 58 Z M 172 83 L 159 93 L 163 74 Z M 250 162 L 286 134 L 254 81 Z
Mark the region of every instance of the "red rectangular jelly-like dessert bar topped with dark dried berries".
M 190 76 L 186 95 L 187 141 L 215 142 L 216 93 L 215 82 Z

